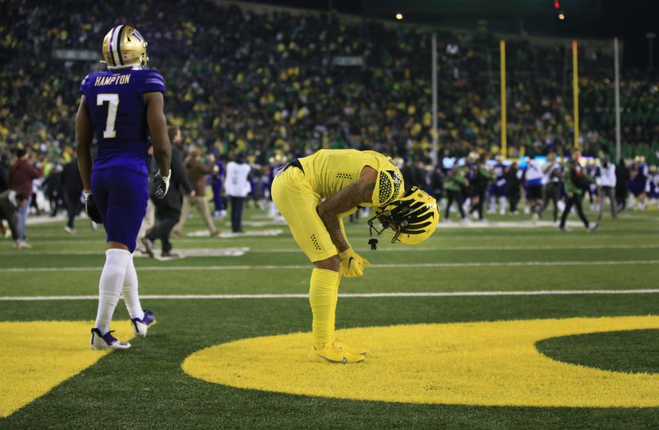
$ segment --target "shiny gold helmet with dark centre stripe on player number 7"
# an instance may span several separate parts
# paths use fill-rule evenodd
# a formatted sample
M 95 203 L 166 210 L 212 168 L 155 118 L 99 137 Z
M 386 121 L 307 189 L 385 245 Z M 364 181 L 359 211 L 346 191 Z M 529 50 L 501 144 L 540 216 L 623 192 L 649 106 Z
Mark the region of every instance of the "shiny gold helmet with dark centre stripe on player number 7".
M 101 63 L 106 63 L 110 70 L 146 66 L 149 62 L 146 45 L 135 27 L 117 25 L 103 39 L 104 60 Z

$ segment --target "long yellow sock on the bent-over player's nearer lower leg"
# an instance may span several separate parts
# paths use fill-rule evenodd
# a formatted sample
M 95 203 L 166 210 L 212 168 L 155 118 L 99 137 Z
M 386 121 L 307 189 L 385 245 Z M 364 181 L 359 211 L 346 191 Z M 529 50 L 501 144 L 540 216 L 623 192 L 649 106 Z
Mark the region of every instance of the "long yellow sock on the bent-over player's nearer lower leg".
M 338 272 L 331 270 L 314 269 L 311 273 L 309 303 L 314 314 L 312 333 L 316 349 L 323 348 L 334 338 L 334 310 L 339 278 Z

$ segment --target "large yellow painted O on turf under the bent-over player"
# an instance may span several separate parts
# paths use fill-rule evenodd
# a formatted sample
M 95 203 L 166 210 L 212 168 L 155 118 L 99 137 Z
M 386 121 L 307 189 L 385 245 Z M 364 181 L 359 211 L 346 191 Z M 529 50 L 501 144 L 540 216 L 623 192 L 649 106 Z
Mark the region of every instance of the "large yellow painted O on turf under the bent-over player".
M 232 387 L 359 400 L 537 407 L 658 407 L 659 374 L 555 361 L 549 337 L 659 328 L 659 317 L 533 319 L 340 330 L 369 346 L 364 363 L 308 359 L 309 333 L 257 337 L 195 352 L 183 370 Z

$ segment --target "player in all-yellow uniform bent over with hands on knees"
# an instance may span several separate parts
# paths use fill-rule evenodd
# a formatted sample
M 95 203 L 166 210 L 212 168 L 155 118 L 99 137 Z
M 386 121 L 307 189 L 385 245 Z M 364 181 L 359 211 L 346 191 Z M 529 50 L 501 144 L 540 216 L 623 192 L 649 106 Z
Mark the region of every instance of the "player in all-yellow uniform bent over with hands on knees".
M 405 193 L 402 178 L 391 158 L 351 149 L 319 150 L 294 159 L 276 173 L 273 201 L 314 264 L 309 290 L 314 354 L 327 361 L 357 363 L 366 353 L 334 339 L 340 277 L 361 276 L 371 265 L 350 246 L 341 218 L 358 206 L 374 207 L 371 231 L 383 237 L 387 232 L 392 242 L 408 244 L 422 242 L 437 227 L 435 199 L 417 188 Z M 372 249 L 376 243 L 371 236 Z

